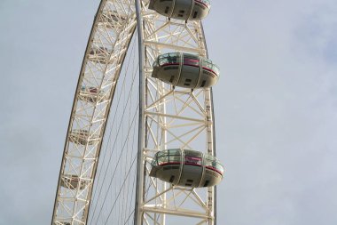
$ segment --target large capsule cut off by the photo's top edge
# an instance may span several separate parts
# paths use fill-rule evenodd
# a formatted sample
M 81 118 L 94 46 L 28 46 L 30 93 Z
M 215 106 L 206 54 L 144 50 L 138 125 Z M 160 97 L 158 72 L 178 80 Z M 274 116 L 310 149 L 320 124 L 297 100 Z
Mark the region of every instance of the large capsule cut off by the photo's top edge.
M 208 0 L 151 0 L 149 9 L 178 20 L 202 20 L 210 4 Z

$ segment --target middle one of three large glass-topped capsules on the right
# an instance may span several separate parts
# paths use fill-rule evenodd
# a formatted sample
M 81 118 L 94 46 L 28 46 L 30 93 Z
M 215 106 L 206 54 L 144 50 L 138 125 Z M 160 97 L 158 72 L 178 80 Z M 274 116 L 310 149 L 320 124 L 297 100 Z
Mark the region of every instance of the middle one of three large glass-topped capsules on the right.
M 220 70 L 211 60 L 189 53 L 166 53 L 153 63 L 154 78 L 186 88 L 205 88 L 216 84 Z

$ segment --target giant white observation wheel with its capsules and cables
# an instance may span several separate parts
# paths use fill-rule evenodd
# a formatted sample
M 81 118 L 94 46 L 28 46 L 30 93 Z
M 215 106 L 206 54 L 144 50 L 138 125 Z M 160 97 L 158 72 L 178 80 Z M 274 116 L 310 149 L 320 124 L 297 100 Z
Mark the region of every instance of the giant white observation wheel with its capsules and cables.
M 74 95 L 51 225 L 216 224 L 208 0 L 102 0 Z M 99 158 L 99 160 L 98 160 Z

